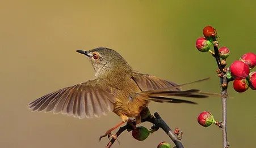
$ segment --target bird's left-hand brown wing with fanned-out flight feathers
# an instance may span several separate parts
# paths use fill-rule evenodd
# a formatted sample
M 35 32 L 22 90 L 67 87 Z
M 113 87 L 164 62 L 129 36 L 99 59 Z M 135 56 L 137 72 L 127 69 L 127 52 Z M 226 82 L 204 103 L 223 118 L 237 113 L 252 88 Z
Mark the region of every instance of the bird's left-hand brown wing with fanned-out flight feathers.
M 89 80 L 49 93 L 30 102 L 28 107 L 32 111 L 61 112 L 79 119 L 106 115 L 114 109 L 116 98 L 111 88 L 102 89 L 96 81 Z

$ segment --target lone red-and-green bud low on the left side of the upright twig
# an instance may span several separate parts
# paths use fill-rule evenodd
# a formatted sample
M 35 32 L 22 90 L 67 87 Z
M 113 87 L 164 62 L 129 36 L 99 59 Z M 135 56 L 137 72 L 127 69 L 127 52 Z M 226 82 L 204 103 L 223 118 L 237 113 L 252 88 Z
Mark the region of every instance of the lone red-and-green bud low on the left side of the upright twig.
M 203 127 L 209 127 L 209 125 L 215 124 L 216 121 L 214 120 L 211 112 L 204 111 L 199 114 L 198 123 Z

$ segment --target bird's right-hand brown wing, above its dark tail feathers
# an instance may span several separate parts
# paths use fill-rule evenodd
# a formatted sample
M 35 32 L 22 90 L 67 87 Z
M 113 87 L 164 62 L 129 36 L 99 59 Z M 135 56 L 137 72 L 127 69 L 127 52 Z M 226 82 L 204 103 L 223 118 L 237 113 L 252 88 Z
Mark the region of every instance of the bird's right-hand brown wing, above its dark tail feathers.
M 166 89 L 170 88 L 169 90 L 181 90 L 181 87 L 174 87 L 177 86 L 174 82 L 167 81 L 161 79 L 160 77 L 144 74 L 144 73 L 137 73 L 134 72 L 132 74 L 132 79 L 136 82 L 139 86 L 140 90 L 155 90 L 155 89 Z

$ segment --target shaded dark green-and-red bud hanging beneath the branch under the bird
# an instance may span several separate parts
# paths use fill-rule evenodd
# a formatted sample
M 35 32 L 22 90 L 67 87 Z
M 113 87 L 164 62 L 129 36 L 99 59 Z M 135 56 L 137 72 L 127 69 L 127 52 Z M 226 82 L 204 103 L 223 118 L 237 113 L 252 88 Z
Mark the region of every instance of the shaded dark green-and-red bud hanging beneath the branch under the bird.
M 149 130 L 145 127 L 137 127 L 132 130 L 132 137 L 139 141 L 144 141 L 149 136 Z

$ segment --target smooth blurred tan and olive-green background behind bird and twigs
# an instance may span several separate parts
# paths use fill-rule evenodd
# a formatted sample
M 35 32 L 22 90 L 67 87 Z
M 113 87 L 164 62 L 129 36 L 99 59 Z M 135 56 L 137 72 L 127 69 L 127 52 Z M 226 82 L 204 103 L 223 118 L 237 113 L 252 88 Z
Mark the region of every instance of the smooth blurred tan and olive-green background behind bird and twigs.
M 215 27 L 220 45 L 231 55 L 256 51 L 255 1 L 2 1 L 0 5 L 0 147 L 104 147 L 99 136 L 120 122 L 110 113 L 79 120 L 66 115 L 31 112 L 30 101 L 94 77 L 85 56 L 75 50 L 110 47 L 141 72 L 186 86 L 220 92 L 215 59 L 196 50 L 206 25 Z M 254 69 L 256 70 L 256 69 Z M 230 147 L 254 147 L 255 94 L 228 89 Z M 197 116 L 210 111 L 221 120 L 221 99 L 194 100 L 199 105 L 150 103 L 172 129 L 183 134 L 184 147 L 222 147 L 221 129 L 200 127 Z M 151 124 L 143 124 L 150 128 Z M 112 147 L 157 147 L 167 141 L 159 130 L 145 141 L 124 132 Z

